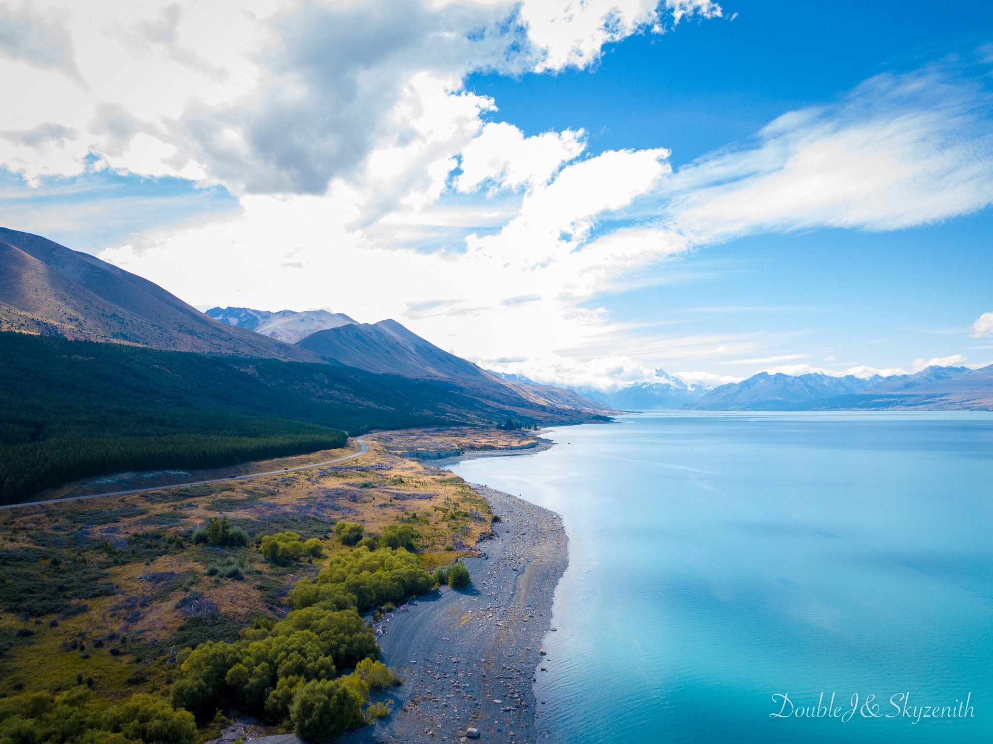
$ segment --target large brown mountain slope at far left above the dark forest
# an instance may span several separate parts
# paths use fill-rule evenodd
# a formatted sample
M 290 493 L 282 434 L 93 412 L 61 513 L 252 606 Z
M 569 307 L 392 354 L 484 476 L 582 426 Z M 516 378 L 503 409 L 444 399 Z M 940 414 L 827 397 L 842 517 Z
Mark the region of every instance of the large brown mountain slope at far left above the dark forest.
M 0 330 L 176 351 L 321 361 L 218 322 L 148 280 L 51 240 L 0 228 Z

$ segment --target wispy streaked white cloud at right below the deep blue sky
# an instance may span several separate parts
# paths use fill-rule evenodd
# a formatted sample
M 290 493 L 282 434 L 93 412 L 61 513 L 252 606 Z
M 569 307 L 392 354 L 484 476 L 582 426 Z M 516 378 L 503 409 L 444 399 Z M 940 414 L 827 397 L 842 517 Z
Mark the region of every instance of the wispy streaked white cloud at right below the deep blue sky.
M 682 169 L 664 228 L 707 244 L 813 227 L 892 230 L 993 203 L 987 99 L 940 69 L 879 75 L 833 106 L 780 116 L 758 142 Z

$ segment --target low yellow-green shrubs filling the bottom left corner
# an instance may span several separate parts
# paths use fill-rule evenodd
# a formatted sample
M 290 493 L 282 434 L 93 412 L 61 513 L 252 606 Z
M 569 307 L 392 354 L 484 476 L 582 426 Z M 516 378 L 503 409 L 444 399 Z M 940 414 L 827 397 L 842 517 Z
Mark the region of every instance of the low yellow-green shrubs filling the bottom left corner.
M 53 695 L 25 692 L 0 699 L 0 742 L 34 744 L 194 744 L 197 724 L 186 710 L 161 697 L 139 694 L 94 710 L 89 688 Z

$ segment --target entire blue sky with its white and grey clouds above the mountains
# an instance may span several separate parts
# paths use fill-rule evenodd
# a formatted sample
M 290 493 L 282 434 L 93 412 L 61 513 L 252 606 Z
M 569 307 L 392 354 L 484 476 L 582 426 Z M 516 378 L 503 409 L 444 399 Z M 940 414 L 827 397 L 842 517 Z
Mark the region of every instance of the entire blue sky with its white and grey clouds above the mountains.
M 258 5 L 0 11 L 0 222 L 562 384 L 993 361 L 989 3 Z

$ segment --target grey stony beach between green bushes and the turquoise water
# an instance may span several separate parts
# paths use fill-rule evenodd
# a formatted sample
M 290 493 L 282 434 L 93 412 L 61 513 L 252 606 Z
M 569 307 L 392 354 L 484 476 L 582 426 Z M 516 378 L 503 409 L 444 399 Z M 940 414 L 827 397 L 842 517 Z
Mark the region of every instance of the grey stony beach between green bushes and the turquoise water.
M 415 744 L 458 741 L 475 726 L 482 741 L 537 740 L 531 683 L 551 624 L 555 585 L 568 563 L 559 515 L 510 494 L 470 484 L 501 522 L 468 558 L 469 589 L 444 587 L 397 609 L 381 624 L 382 661 L 403 678 L 389 691 L 395 712 L 341 741 Z

